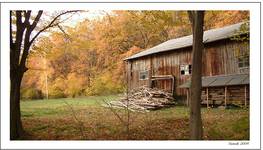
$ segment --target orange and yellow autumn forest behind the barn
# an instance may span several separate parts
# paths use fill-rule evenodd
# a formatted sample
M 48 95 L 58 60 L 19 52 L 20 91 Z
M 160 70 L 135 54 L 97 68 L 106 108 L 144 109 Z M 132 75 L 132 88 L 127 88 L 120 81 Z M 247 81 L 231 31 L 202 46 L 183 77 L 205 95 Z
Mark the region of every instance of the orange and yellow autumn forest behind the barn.
M 248 11 L 206 11 L 205 30 L 247 20 Z M 124 58 L 191 34 L 184 11 L 112 11 L 59 28 L 33 45 L 22 99 L 45 98 L 47 91 L 49 98 L 121 93 Z

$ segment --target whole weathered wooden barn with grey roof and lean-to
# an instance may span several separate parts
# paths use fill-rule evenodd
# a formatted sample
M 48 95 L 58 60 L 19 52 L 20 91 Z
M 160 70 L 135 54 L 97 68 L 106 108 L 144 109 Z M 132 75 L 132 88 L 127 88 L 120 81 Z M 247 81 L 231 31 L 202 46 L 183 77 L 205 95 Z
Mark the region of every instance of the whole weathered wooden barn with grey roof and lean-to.
M 238 32 L 243 24 L 204 32 L 202 98 L 207 105 L 249 102 L 249 42 L 233 40 L 237 34 L 249 34 Z M 126 58 L 129 90 L 150 86 L 186 98 L 192 71 L 192 40 L 192 35 L 172 39 Z M 206 85 L 208 81 L 211 83 Z

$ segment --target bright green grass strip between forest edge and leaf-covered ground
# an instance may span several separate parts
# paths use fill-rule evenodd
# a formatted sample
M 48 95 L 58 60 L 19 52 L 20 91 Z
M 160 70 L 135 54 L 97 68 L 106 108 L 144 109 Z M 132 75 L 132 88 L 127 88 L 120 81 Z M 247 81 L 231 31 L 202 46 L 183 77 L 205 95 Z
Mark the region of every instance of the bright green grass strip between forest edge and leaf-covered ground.
M 73 109 L 100 107 L 104 101 L 115 100 L 117 96 L 90 96 L 86 98 L 61 98 L 48 100 L 24 100 L 21 102 L 22 117 L 54 116 L 71 113 L 68 105 Z

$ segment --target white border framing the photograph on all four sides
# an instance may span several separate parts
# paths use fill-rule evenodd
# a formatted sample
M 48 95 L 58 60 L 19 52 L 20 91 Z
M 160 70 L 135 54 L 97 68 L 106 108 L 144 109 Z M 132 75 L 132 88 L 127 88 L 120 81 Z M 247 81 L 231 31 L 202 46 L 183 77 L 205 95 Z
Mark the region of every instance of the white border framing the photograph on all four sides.
M 10 141 L 10 10 L 249 10 L 250 140 Z M 260 54 L 260 55 L 259 55 Z M 4 149 L 259 149 L 261 146 L 261 2 L 4 2 L 1 3 L 1 148 Z M 260 132 L 259 132 L 260 131 Z M 248 144 L 241 145 L 242 142 Z M 238 143 L 239 145 L 232 145 Z

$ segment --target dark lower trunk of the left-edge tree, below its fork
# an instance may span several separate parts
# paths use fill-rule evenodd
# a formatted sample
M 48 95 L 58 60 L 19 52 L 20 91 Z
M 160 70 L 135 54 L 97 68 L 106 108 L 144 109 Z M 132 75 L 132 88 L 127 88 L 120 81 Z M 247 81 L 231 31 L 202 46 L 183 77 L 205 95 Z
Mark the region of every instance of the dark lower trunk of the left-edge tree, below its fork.
M 19 139 L 23 133 L 20 113 L 20 86 L 23 73 L 17 70 L 10 71 L 10 139 Z

